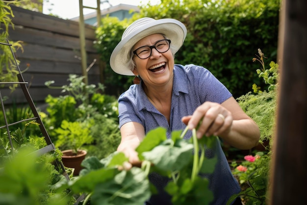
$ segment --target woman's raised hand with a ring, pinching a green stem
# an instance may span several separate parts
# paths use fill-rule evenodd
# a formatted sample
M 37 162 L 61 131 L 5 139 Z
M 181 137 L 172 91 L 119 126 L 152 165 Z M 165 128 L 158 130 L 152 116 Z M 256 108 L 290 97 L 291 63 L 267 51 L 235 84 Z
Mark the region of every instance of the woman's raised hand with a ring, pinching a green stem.
M 204 135 L 227 135 L 230 132 L 232 120 L 230 111 L 221 104 L 213 102 L 205 102 L 195 110 L 192 116 L 182 117 L 183 123 L 189 129 L 197 128 L 197 138 L 202 138 Z

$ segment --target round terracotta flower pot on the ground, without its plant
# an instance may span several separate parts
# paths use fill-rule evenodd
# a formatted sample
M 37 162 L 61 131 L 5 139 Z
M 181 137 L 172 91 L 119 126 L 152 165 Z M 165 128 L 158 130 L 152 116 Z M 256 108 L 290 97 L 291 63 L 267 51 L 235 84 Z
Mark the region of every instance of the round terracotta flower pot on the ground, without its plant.
M 65 167 L 74 168 L 74 175 L 79 175 L 81 167 L 81 162 L 85 159 L 87 152 L 85 150 L 79 149 L 77 155 L 73 152 L 72 149 L 62 151 L 62 162 Z

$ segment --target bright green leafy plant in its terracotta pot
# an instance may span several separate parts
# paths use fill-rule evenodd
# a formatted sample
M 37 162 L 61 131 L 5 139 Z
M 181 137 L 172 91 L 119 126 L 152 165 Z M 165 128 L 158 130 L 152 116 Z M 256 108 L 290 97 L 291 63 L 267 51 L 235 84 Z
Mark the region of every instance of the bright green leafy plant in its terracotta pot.
M 58 135 L 55 146 L 62 150 L 63 165 L 73 168 L 75 176 L 82 169 L 81 162 L 87 154 L 87 151 L 81 147 L 93 141 L 90 131 L 91 125 L 91 121 L 70 122 L 63 120 L 61 126 L 55 129 L 55 133 Z

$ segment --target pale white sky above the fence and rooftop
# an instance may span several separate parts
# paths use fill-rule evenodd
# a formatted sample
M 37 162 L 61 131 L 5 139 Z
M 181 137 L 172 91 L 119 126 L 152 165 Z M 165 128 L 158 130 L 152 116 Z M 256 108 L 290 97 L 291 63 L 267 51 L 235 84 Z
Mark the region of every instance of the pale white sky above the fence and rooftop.
M 104 2 L 103 2 L 104 1 Z M 101 0 L 101 9 L 107 8 L 110 5 L 105 2 L 106 0 Z M 130 4 L 130 5 L 140 5 L 141 3 L 147 3 L 148 1 L 156 1 L 156 0 L 108 0 L 108 2 L 112 5 L 118 5 L 120 3 Z M 97 7 L 97 0 L 83 0 L 83 6 Z M 83 8 L 83 14 L 88 14 L 95 12 L 94 9 Z M 44 0 L 43 6 L 44 14 L 53 14 L 57 15 L 63 19 L 71 19 L 79 16 L 79 0 L 49 0 L 46 2 Z

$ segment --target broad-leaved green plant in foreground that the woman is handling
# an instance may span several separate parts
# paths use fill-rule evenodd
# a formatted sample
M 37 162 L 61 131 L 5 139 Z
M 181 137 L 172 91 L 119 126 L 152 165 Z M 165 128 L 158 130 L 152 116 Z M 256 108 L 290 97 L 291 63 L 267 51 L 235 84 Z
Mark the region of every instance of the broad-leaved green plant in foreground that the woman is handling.
M 213 173 L 217 158 L 205 157 L 205 145 L 211 147 L 217 138 L 198 140 L 194 129 L 193 138 L 185 140 L 186 131 L 174 131 L 167 139 L 165 128 L 151 130 L 136 148 L 141 168 L 125 169 L 128 158 L 122 152 L 113 152 L 102 160 L 86 158 L 82 162 L 85 169 L 68 187 L 75 193 L 89 194 L 94 205 L 143 205 L 152 194 L 148 176 L 156 172 L 172 179 L 165 190 L 174 205 L 208 205 L 213 193 L 208 189 L 208 179 L 199 174 Z

